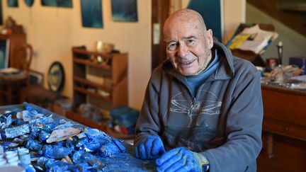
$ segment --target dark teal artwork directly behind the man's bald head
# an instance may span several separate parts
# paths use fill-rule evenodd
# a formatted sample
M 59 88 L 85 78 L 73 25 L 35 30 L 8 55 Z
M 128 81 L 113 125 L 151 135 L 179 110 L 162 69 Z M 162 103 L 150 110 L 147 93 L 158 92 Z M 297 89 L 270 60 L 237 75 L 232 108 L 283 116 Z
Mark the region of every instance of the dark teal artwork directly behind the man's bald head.
M 188 7 L 200 13 L 205 21 L 206 27 L 212 30 L 217 40 L 222 41 L 222 18 L 221 2 L 222 0 L 190 0 Z

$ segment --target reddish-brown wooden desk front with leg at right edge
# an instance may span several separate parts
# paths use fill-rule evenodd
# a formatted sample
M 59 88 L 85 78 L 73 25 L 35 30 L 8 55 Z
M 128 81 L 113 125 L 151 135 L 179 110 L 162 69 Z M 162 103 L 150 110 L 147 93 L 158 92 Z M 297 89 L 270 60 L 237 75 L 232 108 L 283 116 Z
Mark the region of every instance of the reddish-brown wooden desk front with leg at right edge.
M 273 134 L 306 141 L 306 91 L 268 85 L 261 90 L 263 131 L 268 133 L 268 156 L 273 157 Z

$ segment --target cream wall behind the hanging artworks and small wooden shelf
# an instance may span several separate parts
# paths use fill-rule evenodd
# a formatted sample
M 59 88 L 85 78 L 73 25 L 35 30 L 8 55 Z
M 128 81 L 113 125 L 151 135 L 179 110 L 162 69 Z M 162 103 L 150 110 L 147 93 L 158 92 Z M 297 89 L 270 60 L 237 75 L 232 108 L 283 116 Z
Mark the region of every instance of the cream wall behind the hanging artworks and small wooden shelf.
M 8 8 L 7 1 L 2 1 L 3 16 L 4 21 L 12 16 L 25 28 L 35 51 L 31 69 L 47 76 L 52 62 L 62 62 L 66 72 L 63 94 L 72 98 L 72 46 L 94 50 L 97 40 L 113 43 L 116 50 L 128 52 L 129 105 L 140 109 L 151 74 L 151 1 L 137 1 L 138 22 L 125 23 L 113 22 L 111 0 L 102 0 L 103 28 L 81 26 L 79 0 L 72 0 L 73 8 L 41 6 L 38 0 L 29 8 L 24 1 L 18 2 L 18 8 Z

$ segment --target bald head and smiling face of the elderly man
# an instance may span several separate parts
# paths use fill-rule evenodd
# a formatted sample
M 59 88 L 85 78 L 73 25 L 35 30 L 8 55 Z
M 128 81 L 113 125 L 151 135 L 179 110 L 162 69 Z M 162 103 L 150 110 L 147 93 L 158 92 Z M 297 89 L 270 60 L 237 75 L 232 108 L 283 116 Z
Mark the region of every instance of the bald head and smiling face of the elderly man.
M 172 67 L 185 76 L 200 74 L 212 59 L 212 30 L 207 30 L 200 13 L 182 9 L 164 24 L 166 54 Z

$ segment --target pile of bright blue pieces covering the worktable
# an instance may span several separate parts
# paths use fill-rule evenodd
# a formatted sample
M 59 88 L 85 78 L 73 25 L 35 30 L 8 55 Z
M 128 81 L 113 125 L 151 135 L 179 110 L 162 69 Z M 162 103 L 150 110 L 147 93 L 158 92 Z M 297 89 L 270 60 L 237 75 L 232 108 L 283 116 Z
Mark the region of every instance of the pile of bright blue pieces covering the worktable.
M 71 120 L 55 120 L 33 110 L 0 114 L 0 153 L 30 150 L 26 171 L 147 171 L 150 161 L 140 161 L 132 148 L 101 130 Z M 58 115 L 57 115 L 58 116 Z M 128 147 L 128 150 L 126 149 Z M 125 152 L 128 151 L 128 152 Z

